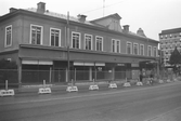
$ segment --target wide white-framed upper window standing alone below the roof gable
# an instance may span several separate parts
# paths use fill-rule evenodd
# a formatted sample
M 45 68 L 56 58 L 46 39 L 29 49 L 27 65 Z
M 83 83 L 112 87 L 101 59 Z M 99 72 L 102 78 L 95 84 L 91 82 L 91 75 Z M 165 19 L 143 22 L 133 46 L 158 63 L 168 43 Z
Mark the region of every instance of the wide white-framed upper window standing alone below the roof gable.
M 120 53 L 120 40 L 112 39 L 112 52 Z

